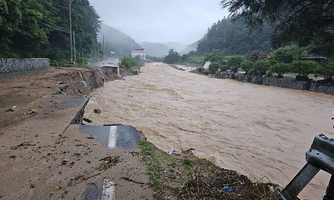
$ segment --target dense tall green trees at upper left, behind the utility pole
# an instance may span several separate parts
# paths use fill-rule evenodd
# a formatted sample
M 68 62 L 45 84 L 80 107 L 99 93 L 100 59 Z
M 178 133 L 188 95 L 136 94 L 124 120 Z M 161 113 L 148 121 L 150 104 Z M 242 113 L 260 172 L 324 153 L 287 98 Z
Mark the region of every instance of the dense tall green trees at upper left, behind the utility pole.
M 88 0 L 72 3 L 72 20 L 77 53 L 93 55 L 101 22 Z M 0 57 L 70 60 L 69 23 L 69 1 L 0 0 Z

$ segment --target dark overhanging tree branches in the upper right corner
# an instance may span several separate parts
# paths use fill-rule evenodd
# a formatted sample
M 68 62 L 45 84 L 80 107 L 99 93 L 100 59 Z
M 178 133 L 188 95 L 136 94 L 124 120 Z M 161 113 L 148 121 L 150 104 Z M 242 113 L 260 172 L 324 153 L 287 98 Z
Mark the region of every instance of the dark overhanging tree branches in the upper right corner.
M 243 19 L 250 28 L 266 23 L 275 26 L 274 47 L 295 43 L 299 47 L 313 46 L 313 52 L 333 57 L 334 1 L 252 1 L 223 0 L 234 19 Z

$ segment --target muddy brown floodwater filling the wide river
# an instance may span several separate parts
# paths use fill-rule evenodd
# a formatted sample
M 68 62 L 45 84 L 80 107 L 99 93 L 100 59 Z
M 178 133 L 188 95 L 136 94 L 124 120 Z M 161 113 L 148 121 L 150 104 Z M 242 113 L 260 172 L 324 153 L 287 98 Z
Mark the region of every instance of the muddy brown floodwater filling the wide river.
M 334 137 L 334 96 L 212 79 L 162 63 L 91 95 L 85 117 L 95 124 L 135 126 L 161 150 L 193 147 L 198 157 L 254 181 L 267 176 L 285 186 L 306 163 L 314 137 Z M 319 173 L 301 196 L 321 199 L 328 181 Z

